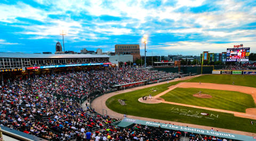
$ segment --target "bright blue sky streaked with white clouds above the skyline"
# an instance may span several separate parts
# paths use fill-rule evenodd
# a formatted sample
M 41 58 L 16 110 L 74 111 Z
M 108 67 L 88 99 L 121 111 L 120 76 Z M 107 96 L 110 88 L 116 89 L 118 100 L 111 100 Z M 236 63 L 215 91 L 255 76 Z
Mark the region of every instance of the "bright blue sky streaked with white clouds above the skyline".
M 243 43 L 256 51 L 256 1 L 5 1 L 0 2 L 0 51 L 115 51 L 148 35 L 148 55 L 199 55 Z M 142 50 L 143 51 L 143 50 Z

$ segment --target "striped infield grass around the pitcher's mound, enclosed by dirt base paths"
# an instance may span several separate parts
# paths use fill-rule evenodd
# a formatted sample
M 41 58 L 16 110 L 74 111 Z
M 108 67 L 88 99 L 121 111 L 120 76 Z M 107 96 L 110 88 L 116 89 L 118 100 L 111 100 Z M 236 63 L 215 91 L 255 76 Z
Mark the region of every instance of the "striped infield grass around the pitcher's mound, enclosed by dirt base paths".
M 198 93 L 198 91 L 202 91 L 204 94 L 210 94 L 212 98 L 202 99 L 194 97 L 193 94 Z M 170 102 L 236 112 L 245 112 L 247 108 L 255 108 L 252 95 L 234 91 L 177 87 L 165 95 L 162 95 L 161 98 Z

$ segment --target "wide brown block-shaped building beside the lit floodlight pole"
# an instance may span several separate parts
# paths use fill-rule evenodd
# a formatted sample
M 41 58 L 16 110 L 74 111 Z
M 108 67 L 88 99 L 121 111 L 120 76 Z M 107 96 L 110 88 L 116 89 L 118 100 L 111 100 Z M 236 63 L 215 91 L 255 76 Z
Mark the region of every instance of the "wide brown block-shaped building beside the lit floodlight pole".
M 116 55 L 132 55 L 133 60 L 140 59 L 140 45 L 138 44 L 124 44 L 115 45 Z

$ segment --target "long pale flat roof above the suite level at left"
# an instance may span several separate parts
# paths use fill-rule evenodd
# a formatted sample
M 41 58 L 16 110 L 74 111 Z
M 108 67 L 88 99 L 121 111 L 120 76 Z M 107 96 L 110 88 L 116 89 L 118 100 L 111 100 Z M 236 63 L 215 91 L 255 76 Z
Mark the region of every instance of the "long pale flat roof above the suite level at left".
M 0 52 L 0 58 L 109 58 L 109 56 L 90 54 L 25 54 L 17 52 Z

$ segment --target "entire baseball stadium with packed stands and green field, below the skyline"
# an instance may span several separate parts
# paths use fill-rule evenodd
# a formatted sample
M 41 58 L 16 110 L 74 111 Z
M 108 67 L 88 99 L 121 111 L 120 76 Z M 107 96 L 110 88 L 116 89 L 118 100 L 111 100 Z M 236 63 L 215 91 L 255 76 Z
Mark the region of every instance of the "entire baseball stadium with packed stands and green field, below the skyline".
M 1 52 L 2 136 L 255 140 L 254 64 L 204 65 L 209 56 L 197 66 L 144 67 L 107 55 Z

